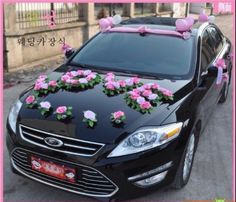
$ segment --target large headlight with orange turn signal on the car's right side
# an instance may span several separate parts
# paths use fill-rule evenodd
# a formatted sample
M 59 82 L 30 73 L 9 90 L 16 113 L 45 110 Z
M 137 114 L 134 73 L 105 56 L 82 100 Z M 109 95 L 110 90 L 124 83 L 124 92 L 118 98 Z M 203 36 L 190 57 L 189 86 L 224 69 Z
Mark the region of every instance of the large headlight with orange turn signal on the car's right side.
M 178 137 L 183 123 L 141 128 L 124 139 L 108 157 L 124 156 L 152 149 Z

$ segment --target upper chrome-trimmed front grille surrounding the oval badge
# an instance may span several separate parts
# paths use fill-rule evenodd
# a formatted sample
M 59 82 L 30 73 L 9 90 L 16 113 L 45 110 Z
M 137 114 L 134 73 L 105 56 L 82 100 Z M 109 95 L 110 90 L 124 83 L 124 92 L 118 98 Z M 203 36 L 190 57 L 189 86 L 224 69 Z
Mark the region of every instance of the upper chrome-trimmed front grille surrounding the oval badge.
M 80 156 L 93 156 L 95 155 L 104 144 L 89 142 L 79 139 L 74 139 L 70 137 L 65 137 L 53 133 L 48 133 L 45 131 L 30 128 L 28 126 L 20 125 L 20 135 L 22 139 L 32 144 L 40 147 L 51 149 L 58 152 L 63 152 L 67 154 L 74 154 Z M 63 141 L 63 145 L 59 148 L 50 147 L 44 141 L 46 137 L 54 137 Z

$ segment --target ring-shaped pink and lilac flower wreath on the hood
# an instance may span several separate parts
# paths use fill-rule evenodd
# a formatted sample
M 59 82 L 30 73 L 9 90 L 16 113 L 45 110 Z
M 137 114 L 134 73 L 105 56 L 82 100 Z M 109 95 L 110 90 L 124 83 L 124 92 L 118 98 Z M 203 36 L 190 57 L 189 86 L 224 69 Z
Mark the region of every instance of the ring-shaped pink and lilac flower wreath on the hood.
M 96 84 L 100 83 L 101 77 L 96 72 L 91 70 L 77 70 L 70 71 L 61 76 L 59 81 L 59 86 L 64 87 L 67 90 L 72 88 L 88 88 L 94 87 Z

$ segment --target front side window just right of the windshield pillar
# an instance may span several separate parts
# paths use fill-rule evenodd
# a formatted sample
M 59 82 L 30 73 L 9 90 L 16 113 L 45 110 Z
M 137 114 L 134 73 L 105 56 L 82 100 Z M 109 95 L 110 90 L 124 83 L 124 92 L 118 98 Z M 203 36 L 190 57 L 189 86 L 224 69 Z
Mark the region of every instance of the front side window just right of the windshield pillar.
M 202 51 L 201 51 L 201 71 L 207 70 L 207 67 L 215 57 L 213 41 L 207 31 L 202 36 Z

